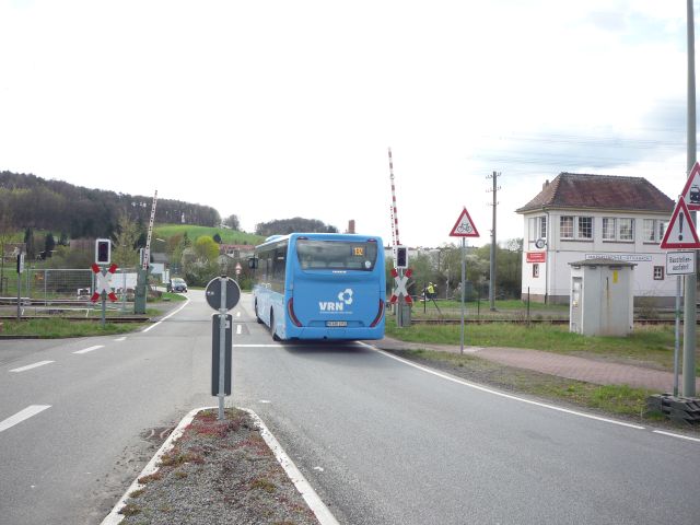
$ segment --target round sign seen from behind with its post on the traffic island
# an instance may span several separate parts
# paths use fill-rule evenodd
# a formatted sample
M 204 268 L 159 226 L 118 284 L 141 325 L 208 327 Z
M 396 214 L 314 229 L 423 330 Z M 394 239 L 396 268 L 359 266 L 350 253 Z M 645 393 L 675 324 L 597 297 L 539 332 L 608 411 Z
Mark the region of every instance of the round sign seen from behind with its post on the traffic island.
M 211 395 L 219 397 L 219 420 L 223 420 L 224 397 L 232 392 L 233 317 L 226 315 L 238 304 L 238 283 L 225 276 L 209 281 L 205 292 L 207 303 L 219 314 L 212 316 Z

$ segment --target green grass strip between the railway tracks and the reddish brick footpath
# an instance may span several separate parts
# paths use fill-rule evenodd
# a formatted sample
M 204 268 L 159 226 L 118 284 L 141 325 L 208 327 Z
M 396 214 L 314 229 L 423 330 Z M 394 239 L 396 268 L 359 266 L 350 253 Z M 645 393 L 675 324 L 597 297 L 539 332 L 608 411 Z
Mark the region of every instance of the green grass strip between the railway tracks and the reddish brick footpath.
M 410 342 L 459 345 L 460 327 L 415 324 L 397 328 L 394 317 L 387 316 L 386 335 Z M 617 362 L 641 362 L 666 371 L 673 370 L 673 326 L 637 326 L 628 337 L 588 337 L 572 334 L 568 326 L 562 325 L 527 327 L 509 323 L 466 323 L 464 338 L 466 346 L 528 348 L 570 355 L 593 355 Z M 700 362 L 700 355 L 697 361 Z M 696 369 L 698 372 L 700 366 Z

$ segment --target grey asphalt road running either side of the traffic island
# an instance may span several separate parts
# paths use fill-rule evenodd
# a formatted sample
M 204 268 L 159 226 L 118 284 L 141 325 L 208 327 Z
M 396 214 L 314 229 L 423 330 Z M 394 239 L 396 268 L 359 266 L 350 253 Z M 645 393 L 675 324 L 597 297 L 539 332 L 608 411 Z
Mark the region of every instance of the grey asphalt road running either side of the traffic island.
M 1 524 L 100 523 L 150 457 L 144 435 L 215 404 L 212 311 L 189 296 L 124 339 L 0 341 Z M 228 404 L 265 420 L 340 523 L 700 521 L 700 442 L 524 402 L 362 343 L 276 343 L 245 294 L 233 314 Z

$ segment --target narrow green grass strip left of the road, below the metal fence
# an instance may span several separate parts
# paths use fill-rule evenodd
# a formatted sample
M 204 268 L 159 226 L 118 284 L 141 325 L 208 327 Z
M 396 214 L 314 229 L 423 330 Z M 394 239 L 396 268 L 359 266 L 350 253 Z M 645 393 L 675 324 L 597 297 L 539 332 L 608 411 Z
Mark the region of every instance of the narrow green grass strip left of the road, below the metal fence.
M 112 336 L 115 334 L 127 334 L 144 324 L 116 324 L 106 323 L 103 327 L 98 322 L 90 320 L 68 320 L 61 318 L 3 320 L 2 335 L 4 336 L 38 336 L 46 339 L 57 339 L 62 337 L 86 337 L 86 336 Z

